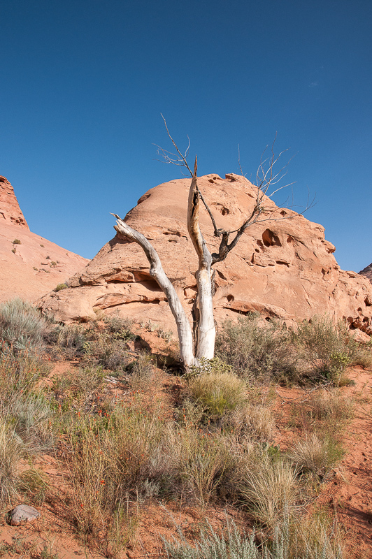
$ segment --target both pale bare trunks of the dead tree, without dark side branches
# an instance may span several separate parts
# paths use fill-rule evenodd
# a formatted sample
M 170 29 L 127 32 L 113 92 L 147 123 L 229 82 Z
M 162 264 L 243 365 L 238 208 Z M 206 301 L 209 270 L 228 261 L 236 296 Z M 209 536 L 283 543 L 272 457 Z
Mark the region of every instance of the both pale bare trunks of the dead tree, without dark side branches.
M 187 207 L 187 229 L 192 243 L 199 257 L 199 268 L 196 272 L 196 284 L 199 296 L 199 324 L 196 328 L 196 351 L 194 354 L 194 339 L 192 328 L 187 319 L 185 310 L 178 298 L 176 290 L 163 270 L 162 263 L 154 247 L 142 233 L 131 228 L 116 214 L 115 230 L 119 235 L 124 235 L 138 243 L 145 252 L 150 263 L 150 275 L 156 280 L 159 287 L 166 294 L 169 307 L 176 320 L 178 339 L 180 341 L 180 359 L 187 369 L 191 365 L 199 365 L 201 358 L 211 359 L 215 352 L 215 322 L 213 317 L 213 296 L 210 268 L 212 256 L 206 246 L 199 227 L 200 194 L 197 187 L 197 161 L 195 159 L 194 174 L 189 189 Z

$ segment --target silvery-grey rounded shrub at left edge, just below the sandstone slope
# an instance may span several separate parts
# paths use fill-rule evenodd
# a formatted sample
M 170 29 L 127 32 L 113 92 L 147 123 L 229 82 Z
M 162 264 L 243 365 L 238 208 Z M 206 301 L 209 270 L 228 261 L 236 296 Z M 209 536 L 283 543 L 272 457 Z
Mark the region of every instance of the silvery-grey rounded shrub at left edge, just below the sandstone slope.
M 0 338 L 15 351 L 43 349 L 49 330 L 47 319 L 31 303 L 15 298 L 0 305 Z

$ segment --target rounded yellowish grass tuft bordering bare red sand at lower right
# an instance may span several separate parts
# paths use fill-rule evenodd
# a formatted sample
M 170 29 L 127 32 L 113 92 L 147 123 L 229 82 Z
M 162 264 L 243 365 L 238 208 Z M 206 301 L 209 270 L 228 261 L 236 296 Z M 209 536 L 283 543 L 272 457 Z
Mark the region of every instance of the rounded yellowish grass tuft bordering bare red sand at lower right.
M 288 451 L 289 460 L 299 472 L 312 472 L 323 478 L 343 457 L 340 444 L 329 436 L 319 437 L 316 433 L 306 435 Z

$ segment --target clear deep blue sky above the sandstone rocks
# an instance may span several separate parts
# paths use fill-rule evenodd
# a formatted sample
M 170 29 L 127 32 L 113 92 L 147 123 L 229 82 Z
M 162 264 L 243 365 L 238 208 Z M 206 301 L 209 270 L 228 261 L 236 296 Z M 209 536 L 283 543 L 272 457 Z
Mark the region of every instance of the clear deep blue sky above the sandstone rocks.
M 341 268 L 372 261 L 371 0 L 0 0 L 0 174 L 31 231 L 92 258 L 151 187 L 255 176 L 266 144 L 296 154 L 295 201 Z

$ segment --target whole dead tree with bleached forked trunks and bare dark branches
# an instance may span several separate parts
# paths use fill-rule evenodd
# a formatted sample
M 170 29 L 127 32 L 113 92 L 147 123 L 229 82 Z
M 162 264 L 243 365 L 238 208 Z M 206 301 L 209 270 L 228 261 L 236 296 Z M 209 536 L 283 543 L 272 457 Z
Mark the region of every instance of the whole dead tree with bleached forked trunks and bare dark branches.
M 165 119 L 164 124 L 166 126 Z M 178 147 L 171 137 L 167 127 L 166 131 L 168 132 L 169 138 L 171 138 L 177 153 L 173 154 L 161 147 L 159 147 L 158 152 L 162 154 L 162 157 L 164 157 L 166 162 L 183 166 L 187 168 L 189 173 L 192 175 L 187 205 L 187 230 L 199 259 L 199 266 L 196 271 L 199 320 L 197 321 L 196 328 L 194 328 L 194 332 L 180 299 L 178 298 L 176 290 L 164 273 L 162 263 L 154 247 L 152 247 L 148 239 L 146 239 L 142 233 L 139 233 L 135 229 L 131 228 L 126 222 L 124 222 L 124 220 L 120 219 L 118 215 L 112 215 L 117 219 L 115 225 L 117 233 L 133 240 L 134 242 L 137 242 L 138 245 L 142 247 L 150 263 L 150 275 L 152 275 L 166 295 L 169 307 L 171 307 L 171 312 L 177 324 L 178 339 L 180 342 L 180 361 L 183 364 L 183 367 L 187 369 L 191 365 L 198 366 L 202 358 L 211 359 L 214 356 L 215 321 L 213 317 L 213 265 L 226 259 L 229 252 L 231 252 L 238 243 L 241 235 L 243 235 L 244 231 L 252 224 L 257 222 L 290 219 L 290 216 L 276 217 L 276 215 L 274 215 L 276 210 L 268 210 L 264 207 L 265 197 L 270 198 L 278 190 L 284 188 L 282 186 L 278 187 L 274 191 L 271 191 L 271 187 L 273 187 L 274 184 L 277 184 L 278 181 L 285 175 L 285 172 L 283 173 L 283 168 L 279 171 L 279 173 L 274 171 L 274 165 L 278 162 L 278 159 L 283 152 L 276 157 L 272 147 L 270 159 L 266 159 L 264 161 L 262 159 L 257 170 L 257 196 L 255 199 L 255 207 L 252 209 L 250 215 L 245 219 L 243 224 L 234 231 L 226 231 L 224 229 L 217 228 L 213 214 L 198 188 L 196 174 L 197 159 L 195 158 L 194 171 L 192 172 L 186 159 L 189 148 L 187 147 L 185 154 L 182 154 L 180 150 L 178 150 Z M 267 170 L 265 166 L 266 163 L 268 163 Z M 201 203 L 205 206 L 213 223 L 215 237 L 220 238 L 218 252 L 213 254 L 210 253 L 208 247 L 206 246 L 206 242 L 199 226 Z M 306 209 L 309 207 L 310 206 L 307 205 Z M 230 241 L 231 235 L 232 240 Z

